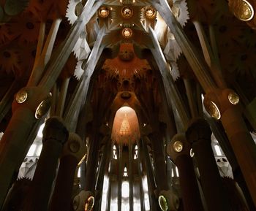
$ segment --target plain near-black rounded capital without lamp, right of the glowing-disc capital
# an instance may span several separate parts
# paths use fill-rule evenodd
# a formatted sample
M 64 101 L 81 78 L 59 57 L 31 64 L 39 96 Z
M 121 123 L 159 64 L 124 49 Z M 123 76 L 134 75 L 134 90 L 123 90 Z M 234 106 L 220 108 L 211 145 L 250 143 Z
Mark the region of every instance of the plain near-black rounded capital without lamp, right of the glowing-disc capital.
M 192 120 L 186 131 L 187 141 L 193 144 L 201 139 L 211 142 L 211 128 L 203 118 Z

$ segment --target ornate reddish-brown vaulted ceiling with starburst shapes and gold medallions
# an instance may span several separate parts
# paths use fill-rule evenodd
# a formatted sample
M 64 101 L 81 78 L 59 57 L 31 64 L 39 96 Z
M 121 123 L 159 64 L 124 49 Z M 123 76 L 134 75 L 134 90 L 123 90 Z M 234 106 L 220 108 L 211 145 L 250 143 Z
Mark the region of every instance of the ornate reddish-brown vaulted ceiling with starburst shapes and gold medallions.
M 239 89 L 242 97 L 244 96 L 244 101 L 252 101 L 256 96 L 254 70 L 256 36 L 252 29 L 255 18 L 246 22 L 252 28 L 238 20 L 230 12 L 230 10 L 235 11 L 234 9 L 240 8 L 240 4 L 234 2 L 230 1 L 228 4 L 225 0 L 168 1 L 178 22 L 184 27 L 185 33 L 202 55 L 196 23 L 200 23 L 211 44 L 217 43 L 214 51 L 219 57 L 219 64 L 227 84 L 231 88 Z M 249 3 L 252 6 L 255 5 L 254 1 L 249 1 Z M 59 1 L 50 0 L 20 1 L 13 11 L 8 10 L 7 4 L 9 4 L 8 1 L 0 1 L 3 10 L 3 15 L 0 15 L 1 97 L 14 81 L 19 82 L 19 88 L 26 85 L 40 46 L 38 40 L 47 39 L 48 34 L 51 33 L 53 20 L 62 19 L 56 42 L 53 45 L 54 51 L 61 47 L 61 42 L 77 20 L 86 1 L 61 1 L 61 4 Z M 21 9 L 20 12 L 17 8 Z M 250 12 L 248 9 L 246 11 Z M 115 111 L 122 103 L 128 101 L 133 101 L 129 104 L 131 107 L 148 107 L 148 112 L 136 110 L 144 115 L 157 110 L 155 108 L 162 106 L 162 99 L 159 94 L 155 61 L 148 60 L 148 53 L 146 53 L 146 49 L 153 46 L 148 35 L 148 26 L 154 28 L 170 66 L 173 80 L 176 80 L 177 88 L 183 93 L 182 80 L 195 80 L 194 74 L 172 31 L 157 10 L 147 1 L 138 0 L 104 1 L 76 41 L 73 49 L 74 55 L 70 55 L 57 84 L 71 77 L 68 93 L 71 94 L 74 91 L 75 85 L 84 72 L 85 63 L 97 39 L 99 29 L 105 27 L 106 36 L 103 44 L 111 50 L 112 55 L 103 62 L 102 66 L 98 67 L 100 71 L 94 85 L 98 88 L 104 88 L 103 84 L 106 85 L 105 88 L 111 87 L 110 91 L 113 91 L 115 96 L 113 102 L 116 105 L 109 104 L 108 106 L 114 107 Z M 99 85 L 100 83 L 102 85 Z M 154 104 L 153 107 L 149 106 L 152 104 Z

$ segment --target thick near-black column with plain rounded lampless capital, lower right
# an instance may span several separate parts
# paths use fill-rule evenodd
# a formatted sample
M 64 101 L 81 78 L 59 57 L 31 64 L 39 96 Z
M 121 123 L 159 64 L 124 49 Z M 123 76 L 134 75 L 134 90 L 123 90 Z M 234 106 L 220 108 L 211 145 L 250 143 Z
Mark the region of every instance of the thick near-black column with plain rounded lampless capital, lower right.
M 187 128 L 186 137 L 195 152 L 208 211 L 230 210 L 211 148 L 211 128 L 206 120 L 194 120 Z

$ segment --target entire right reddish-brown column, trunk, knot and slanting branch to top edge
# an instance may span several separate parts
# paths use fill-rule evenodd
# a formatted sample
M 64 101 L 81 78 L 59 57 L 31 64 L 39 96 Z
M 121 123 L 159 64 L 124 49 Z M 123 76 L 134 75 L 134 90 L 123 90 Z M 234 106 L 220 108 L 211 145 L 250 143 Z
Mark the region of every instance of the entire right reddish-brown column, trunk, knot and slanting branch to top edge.
M 233 102 L 231 102 L 232 99 L 231 101 L 228 99 L 232 91 L 229 89 L 222 90 L 217 88 L 217 84 L 209 74 L 206 62 L 203 61 L 200 53 L 197 52 L 192 45 L 192 42 L 187 38 L 181 25 L 171 12 L 167 1 L 150 0 L 148 2 L 158 10 L 159 14 L 174 34 L 178 45 L 181 47 L 187 61 L 192 67 L 195 77 L 197 77 L 197 80 L 205 93 L 207 93 L 205 99 L 208 98 L 208 109 L 215 110 L 214 112 L 216 114 L 219 113 L 219 117 L 217 118 L 221 118 L 222 120 L 227 137 L 230 139 L 233 151 L 238 159 L 238 164 L 241 167 L 244 179 L 246 180 L 246 184 L 256 205 L 256 146 L 246 128 L 241 111 L 233 106 Z M 152 31 L 150 27 L 149 31 Z

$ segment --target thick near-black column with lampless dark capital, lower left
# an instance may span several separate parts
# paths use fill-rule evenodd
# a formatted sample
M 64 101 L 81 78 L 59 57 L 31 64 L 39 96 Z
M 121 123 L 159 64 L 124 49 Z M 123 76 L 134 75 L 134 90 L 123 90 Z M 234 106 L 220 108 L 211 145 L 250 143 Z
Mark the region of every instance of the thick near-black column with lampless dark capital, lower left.
M 43 130 L 42 152 L 37 169 L 26 199 L 24 210 L 46 211 L 53 180 L 56 175 L 59 156 L 68 138 L 67 128 L 60 118 L 53 117 L 46 121 Z

